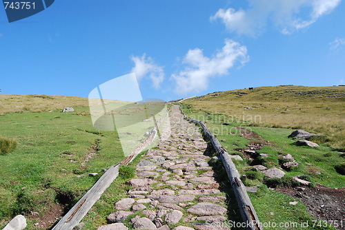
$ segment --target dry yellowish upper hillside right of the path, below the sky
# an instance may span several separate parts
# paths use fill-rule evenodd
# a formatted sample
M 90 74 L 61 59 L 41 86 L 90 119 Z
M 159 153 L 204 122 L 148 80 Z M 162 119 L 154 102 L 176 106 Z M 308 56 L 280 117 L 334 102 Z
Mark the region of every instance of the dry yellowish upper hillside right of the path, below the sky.
M 183 101 L 193 109 L 226 114 L 247 125 L 305 129 L 326 135 L 345 151 L 345 87 L 295 85 L 214 92 Z

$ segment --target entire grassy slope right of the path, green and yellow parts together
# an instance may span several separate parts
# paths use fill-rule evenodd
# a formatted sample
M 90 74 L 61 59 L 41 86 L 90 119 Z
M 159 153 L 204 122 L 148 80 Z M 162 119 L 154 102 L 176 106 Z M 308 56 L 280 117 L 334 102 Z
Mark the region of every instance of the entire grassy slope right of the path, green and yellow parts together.
M 260 150 L 262 153 L 269 154 L 268 158 L 262 159 L 262 164 L 266 167 L 279 167 L 278 155 L 292 154 L 295 160 L 301 164 L 297 169 L 287 171 L 286 178 L 304 175 L 313 184 L 319 182 L 329 187 L 344 187 L 345 176 L 337 174 L 334 168 L 336 164 L 344 163 L 344 157 L 341 157 L 338 151 L 334 151 L 328 145 L 331 144 L 333 147 L 344 149 L 344 132 L 342 129 L 345 114 L 345 88 L 329 88 L 331 90 L 328 90 L 326 94 L 322 93 L 325 88 L 295 86 L 260 87 L 255 88 L 256 91 L 253 92 L 249 92 L 249 90 L 217 92 L 186 100 L 183 102 L 183 109 L 187 116 L 205 121 L 210 131 L 217 134 L 219 140 L 224 140 L 222 145 L 230 154 L 242 155 L 235 149 L 246 149 L 248 142 L 252 141 L 244 138 L 235 128 L 247 127 L 270 142 L 270 145 L 266 145 Z M 294 93 L 291 93 L 293 91 L 311 92 L 315 90 L 322 90 L 322 92 L 313 98 L 310 96 L 299 97 L 299 95 L 295 96 Z M 243 94 L 244 92 L 246 94 Z M 243 96 L 238 96 L 242 94 Z M 264 94 L 271 96 L 266 98 Z M 330 95 L 337 95 L 338 97 L 328 97 Z M 244 109 L 246 106 L 253 107 L 253 109 Z M 299 107 L 297 108 L 297 106 Z M 275 107 L 279 107 L 279 109 L 275 109 Z M 324 107 L 331 107 L 331 109 L 324 109 Z M 290 111 L 284 111 L 286 108 L 290 108 Z M 255 115 L 262 116 L 262 123 L 246 119 L 254 118 Z M 322 122 L 317 121 L 319 118 L 322 119 Z M 229 125 L 221 125 L 221 123 L 228 123 Z M 254 126 L 248 127 L 248 125 Z M 293 131 L 288 127 L 303 128 L 311 132 L 322 130 L 322 134 L 331 135 L 334 139 L 330 138 L 331 143 L 321 142 L 320 147 L 315 149 L 297 147 L 293 145 L 295 140 L 287 137 Z M 337 138 L 340 141 L 337 141 Z M 249 178 L 245 182 L 247 186 L 261 185 L 258 194 L 249 195 L 262 222 L 311 222 L 313 220 L 301 202 L 299 202 L 298 207 L 291 207 L 288 202 L 293 201 L 293 198 L 271 191 L 262 185 L 264 175 L 260 172 L 253 173 L 250 171 L 247 163 L 246 160 L 243 162 L 235 160 L 240 174 L 247 174 Z M 315 174 L 316 171 L 321 172 L 321 174 Z

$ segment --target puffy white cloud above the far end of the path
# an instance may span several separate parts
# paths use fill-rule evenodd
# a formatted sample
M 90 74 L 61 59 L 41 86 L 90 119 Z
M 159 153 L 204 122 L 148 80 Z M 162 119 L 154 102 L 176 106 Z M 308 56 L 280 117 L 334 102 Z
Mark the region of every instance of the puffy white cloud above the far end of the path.
M 211 58 L 204 56 L 199 48 L 188 50 L 183 60 L 184 70 L 171 76 L 175 92 L 188 94 L 206 90 L 211 77 L 224 76 L 237 61 L 243 65 L 248 60 L 246 47 L 230 39 L 226 39 L 224 47 Z

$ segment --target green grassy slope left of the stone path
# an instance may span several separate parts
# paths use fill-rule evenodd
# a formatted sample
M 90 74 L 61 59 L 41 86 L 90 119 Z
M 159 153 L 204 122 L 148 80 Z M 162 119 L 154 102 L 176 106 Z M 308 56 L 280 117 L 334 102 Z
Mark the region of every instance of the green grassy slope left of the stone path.
M 124 158 L 117 134 L 92 127 L 87 105 L 87 98 L 70 96 L 0 95 L 0 135 L 18 141 L 0 155 L 0 228 L 19 213 L 44 215 L 57 194 L 75 202 L 99 178 L 89 173 L 101 175 Z M 65 106 L 76 111 L 59 112 Z M 98 153 L 81 167 L 96 141 Z M 27 217 L 30 226 L 38 220 Z

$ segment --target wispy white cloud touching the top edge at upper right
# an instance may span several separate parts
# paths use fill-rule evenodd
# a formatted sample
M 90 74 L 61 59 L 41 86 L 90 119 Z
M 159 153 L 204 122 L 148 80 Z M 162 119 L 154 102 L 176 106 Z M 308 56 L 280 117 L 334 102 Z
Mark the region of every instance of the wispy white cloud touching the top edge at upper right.
M 273 23 L 283 34 L 307 28 L 319 17 L 331 13 L 342 0 L 249 0 L 248 10 L 219 9 L 210 17 L 221 19 L 226 28 L 238 34 L 255 36 Z

